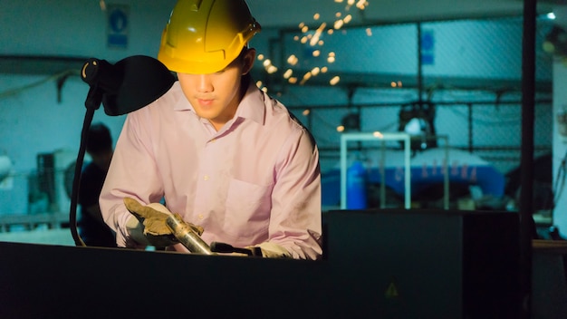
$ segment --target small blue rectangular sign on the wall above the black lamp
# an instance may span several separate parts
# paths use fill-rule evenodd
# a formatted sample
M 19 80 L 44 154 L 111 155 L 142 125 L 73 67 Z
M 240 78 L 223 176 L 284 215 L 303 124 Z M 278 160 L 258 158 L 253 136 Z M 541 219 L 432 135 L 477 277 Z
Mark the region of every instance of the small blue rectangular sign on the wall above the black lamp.
M 107 5 L 107 45 L 111 48 L 126 49 L 128 46 L 129 7 L 128 5 Z

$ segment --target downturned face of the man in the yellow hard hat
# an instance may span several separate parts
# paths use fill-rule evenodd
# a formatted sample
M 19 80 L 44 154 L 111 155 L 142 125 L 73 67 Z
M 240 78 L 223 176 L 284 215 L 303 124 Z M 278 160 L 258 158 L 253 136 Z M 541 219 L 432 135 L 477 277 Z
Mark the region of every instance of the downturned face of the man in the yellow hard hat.
M 230 121 L 240 103 L 242 75 L 248 73 L 255 59 L 255 50 L 248 50 L 217 73 L 178 73 L 181 89 L 197 115 L 213 124 L 216 131 Z

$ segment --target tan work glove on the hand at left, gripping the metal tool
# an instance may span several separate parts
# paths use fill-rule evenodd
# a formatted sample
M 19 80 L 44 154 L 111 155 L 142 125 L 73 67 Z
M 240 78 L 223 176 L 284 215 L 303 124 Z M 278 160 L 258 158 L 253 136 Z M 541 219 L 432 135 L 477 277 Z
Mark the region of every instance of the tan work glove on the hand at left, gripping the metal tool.
M 162 248 L 178 243 L 166 223 L 172 215 L 168 208 L 159 203 L 143 206 L 134 198 L 124 198 L 124 205 L 133 215 L 126 228 L 139 245 Z

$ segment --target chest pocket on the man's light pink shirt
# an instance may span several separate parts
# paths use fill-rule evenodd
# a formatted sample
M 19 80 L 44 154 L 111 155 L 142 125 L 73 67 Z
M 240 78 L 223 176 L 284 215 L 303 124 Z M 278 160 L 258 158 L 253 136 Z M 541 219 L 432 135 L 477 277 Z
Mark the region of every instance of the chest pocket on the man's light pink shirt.
M 273 186 L 232 179 L 226 195 L 224 230 L 232 237 L 267 237 Z

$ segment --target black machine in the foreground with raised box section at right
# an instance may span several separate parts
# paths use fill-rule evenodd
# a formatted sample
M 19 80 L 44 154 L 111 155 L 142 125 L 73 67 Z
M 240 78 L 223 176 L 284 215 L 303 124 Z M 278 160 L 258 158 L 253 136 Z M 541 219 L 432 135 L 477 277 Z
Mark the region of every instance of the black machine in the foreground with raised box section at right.
M 318 261 L 0 243 L 0 318 L 516 318 L 518 215 L 323 213 Z

